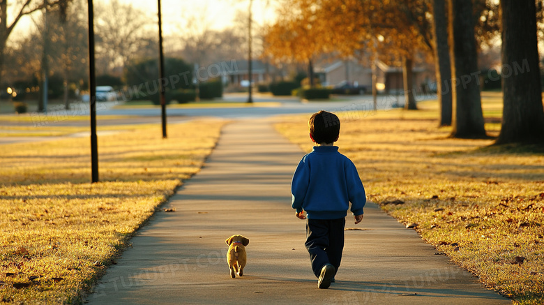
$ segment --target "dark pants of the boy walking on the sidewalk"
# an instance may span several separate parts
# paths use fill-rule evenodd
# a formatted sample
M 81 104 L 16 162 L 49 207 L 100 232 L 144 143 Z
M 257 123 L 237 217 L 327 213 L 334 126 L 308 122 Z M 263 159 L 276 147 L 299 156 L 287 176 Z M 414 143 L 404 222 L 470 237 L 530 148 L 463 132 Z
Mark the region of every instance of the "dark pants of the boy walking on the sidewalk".
M 310 253 L 315 276 L 319 277 L 325 264 L 333 265 L 338 271 L 344 250 L 345 224 L 345 218 L 308 219 L 305 246 Z

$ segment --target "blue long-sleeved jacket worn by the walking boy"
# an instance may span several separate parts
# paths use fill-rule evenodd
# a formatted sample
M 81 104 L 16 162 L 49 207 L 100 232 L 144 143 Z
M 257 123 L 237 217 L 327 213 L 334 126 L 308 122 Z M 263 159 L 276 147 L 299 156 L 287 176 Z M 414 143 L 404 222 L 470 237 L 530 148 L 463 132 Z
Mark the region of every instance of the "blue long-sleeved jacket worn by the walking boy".
M 355 165 L 336 146 L 315 146 L 303 156 L 291 183 L 292 207 L 310 219 L 343 218 L 352 202 L 354 215 L 363 214 L 365 188 Z

